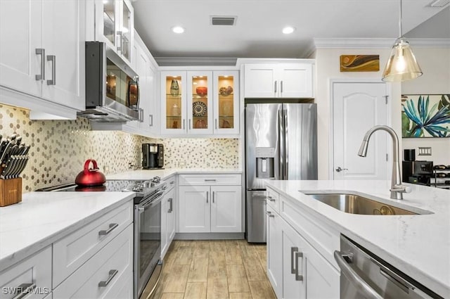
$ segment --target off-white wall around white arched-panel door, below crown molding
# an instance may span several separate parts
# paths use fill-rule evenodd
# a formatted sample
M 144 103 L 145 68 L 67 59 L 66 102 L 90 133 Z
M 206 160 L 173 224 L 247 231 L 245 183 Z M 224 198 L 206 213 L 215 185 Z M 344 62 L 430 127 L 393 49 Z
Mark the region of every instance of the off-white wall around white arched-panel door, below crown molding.
M 340 56 L 345 54 L 366 54 L 380 55 L 379 72 L 340 72 Z M 330 80 L 331 79 L 367 79 L 371 82 L 377 80 L 381 82 L 381 75 L 385 63 L 390 54 L 390 49 L 317 49 L 314 56 L 316 58 L 316 97 L 317 103 L 317 134 L 319 148 L 319 179 L 328 179 L 330 166 Z M 388 84 L 391 89 L 393 101 L 391 103 L 391 121 L 390 125 L 401 136 L 401 84 Z

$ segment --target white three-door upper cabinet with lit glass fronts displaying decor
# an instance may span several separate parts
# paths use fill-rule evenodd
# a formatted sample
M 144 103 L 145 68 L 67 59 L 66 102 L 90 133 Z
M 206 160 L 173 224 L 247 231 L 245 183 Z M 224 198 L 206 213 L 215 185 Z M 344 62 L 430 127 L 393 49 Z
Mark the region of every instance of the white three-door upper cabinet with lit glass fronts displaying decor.
M 239 134 L 238 71 L 161 72 L 161 133 Z

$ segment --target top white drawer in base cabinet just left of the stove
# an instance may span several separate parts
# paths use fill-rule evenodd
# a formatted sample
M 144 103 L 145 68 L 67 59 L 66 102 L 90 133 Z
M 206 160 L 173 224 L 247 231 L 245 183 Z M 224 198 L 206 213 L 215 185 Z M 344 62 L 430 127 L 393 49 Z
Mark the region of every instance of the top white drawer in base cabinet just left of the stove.
M 129 201 L 53 243 L 53 287 L 58 286 L 131 222 L 133 203 Z

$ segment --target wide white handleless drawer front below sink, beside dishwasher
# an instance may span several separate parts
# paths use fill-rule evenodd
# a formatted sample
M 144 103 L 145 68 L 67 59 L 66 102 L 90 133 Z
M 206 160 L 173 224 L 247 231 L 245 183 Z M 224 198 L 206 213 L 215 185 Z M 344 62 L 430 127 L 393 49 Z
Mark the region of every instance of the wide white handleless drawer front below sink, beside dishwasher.
M 308 214 L 298 204 L 283 196 L 280 198 L 280 215 L 338 269 L 333 253 L 340 248 L 339 231 Z

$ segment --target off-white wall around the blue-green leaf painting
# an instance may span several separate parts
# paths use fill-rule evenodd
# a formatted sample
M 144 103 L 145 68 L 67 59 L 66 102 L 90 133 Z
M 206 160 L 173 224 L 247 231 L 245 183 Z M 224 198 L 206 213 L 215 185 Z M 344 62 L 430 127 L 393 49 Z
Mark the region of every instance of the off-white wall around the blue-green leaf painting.
M 401 84 L 402 94 L 450 94 L 450 48 L 413 48 L 423 75 Z M 450 165 L 450 138 L 404 138 L 403 148 L 416 148 L 416 160 Z M 418 155 L 418 147 L 432 148 L 432 155 Z

